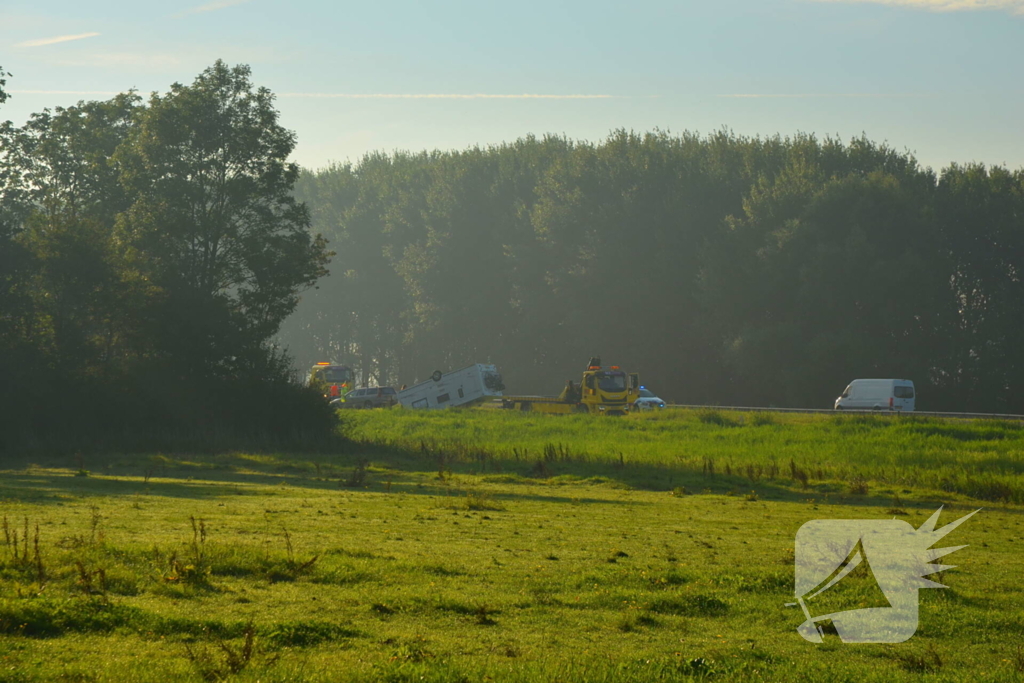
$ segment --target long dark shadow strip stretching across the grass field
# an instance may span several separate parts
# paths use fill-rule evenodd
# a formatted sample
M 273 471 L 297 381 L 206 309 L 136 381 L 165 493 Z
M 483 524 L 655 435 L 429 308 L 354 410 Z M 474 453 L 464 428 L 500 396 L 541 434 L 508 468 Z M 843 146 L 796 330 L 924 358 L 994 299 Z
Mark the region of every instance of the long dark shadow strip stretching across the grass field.
M 74 461 L 74 462 L 70 462 Z M 62 505 L 75 499 L 134 496 L 172 499 L 217 499 L 266 496 L 268 487 L 300 487 L 349 493 L 391 493 L 446 497 L 459 502 L 480 486 L 505 484 L 490 492 L 498 501 L 564 504 L 643 505 L 642 501 L 580 498 L 579 485 L 609 492 L 665 492 L 680 499 L 702 494 L 729 495 L 739 502 L 778 501 L 893 509 L 892 493 L 854 495 L 837 482 L 803 487 L 784 477 L 751 480 L 742 475 L 709 474 L 684 464 L 579 462 L 572 459 L 531 461 L 514 458 L 459 458 L 426 449 L 362 445 L 357 453 L 219 454 L 211 456 L 91 456 L 8 459 L 0 480 L 0 501 Z M 353 473 L 362 468 L 360 476 Z M 2 470 L 0 470 L 2 471 Z M 473 479 L 465 480 L 465 477 Z M 545 492 L 538 490 L 546 488 Z M 887 488 L 893 488 L 887 486 Z M 899 487 L 895 487 L 899 488 Z M 935 500 L 901 503 L 905 510 L 934 509 Z M 1022 512 L 1012 508 L 1008 512 Z

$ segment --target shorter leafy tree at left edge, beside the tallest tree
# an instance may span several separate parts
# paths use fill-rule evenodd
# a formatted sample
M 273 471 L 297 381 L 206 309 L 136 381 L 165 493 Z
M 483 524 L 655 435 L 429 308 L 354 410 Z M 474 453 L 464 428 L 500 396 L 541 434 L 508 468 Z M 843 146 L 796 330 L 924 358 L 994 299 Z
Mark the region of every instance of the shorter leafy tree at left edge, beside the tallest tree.
M 31 333 L 71 368 L 89 365 L 90 356 L 110 364 L 125 352 L 125 297 L 138 283 L 122 278 L 112 242 L 115 217 L 128 200 L 110 160 L 138 100 L 129 92 L 46 110 L 5 136 L 0 164 L 22 204 L 18 243 L 36 264 Z

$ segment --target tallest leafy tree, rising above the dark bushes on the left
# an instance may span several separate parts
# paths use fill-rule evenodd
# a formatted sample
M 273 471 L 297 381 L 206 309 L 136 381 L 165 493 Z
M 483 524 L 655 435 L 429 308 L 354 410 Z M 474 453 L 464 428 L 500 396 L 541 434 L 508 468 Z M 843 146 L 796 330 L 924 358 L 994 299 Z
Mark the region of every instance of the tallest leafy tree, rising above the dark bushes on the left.
M 115 160 L 133 198 L 123 239 L 160 288 L 155 351 L 189 372 L 252 369 L 326 273 L 325 241 L 292 188 L 295 135 L 250 70 L 222 61 L 154 93 Z

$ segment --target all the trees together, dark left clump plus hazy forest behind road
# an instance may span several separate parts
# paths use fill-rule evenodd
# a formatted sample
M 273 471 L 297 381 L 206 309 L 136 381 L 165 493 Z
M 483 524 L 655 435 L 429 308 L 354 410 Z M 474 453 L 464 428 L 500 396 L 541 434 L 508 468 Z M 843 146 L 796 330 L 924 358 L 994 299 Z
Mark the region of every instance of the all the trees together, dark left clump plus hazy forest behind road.
M 1024 171 L 618 131 L 300 172 L 295 142 L 220 61 L 0 124 L 0 450 L 325 435 L 317 360 L 555 393 L 600 355 L 745 405 L 901 377 L 1024 413 Z

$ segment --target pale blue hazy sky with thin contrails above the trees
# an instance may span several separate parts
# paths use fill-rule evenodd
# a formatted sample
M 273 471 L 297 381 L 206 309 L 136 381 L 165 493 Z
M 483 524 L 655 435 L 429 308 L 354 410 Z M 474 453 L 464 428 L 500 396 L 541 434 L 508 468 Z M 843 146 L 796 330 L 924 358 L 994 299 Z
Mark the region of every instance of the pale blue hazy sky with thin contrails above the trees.
M 654 128 L 1024 167 L 1024 0 L 0 0 L 0 119 L 248 63 L 318 168 Z

